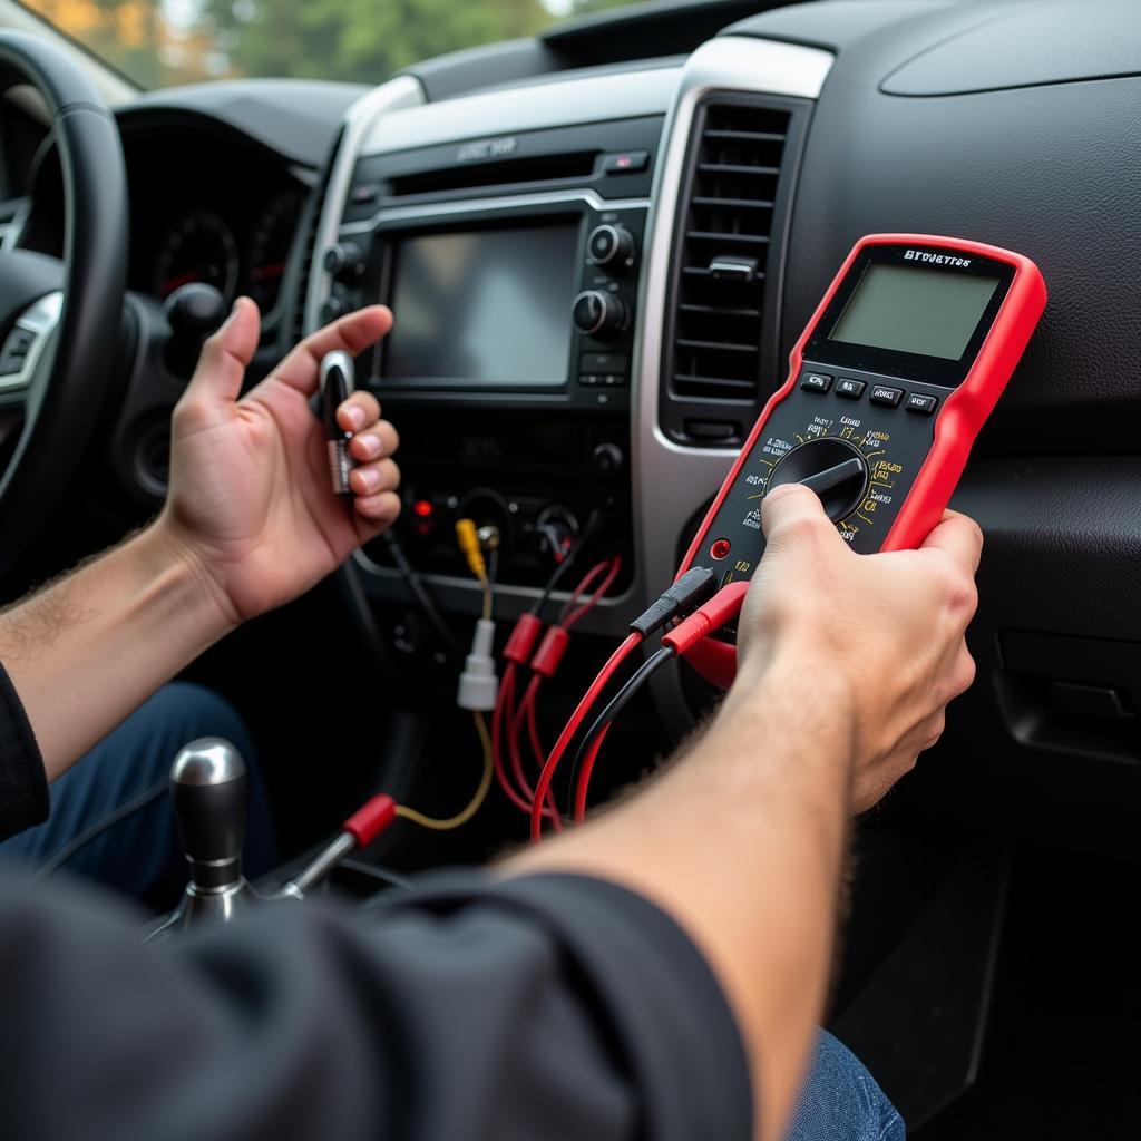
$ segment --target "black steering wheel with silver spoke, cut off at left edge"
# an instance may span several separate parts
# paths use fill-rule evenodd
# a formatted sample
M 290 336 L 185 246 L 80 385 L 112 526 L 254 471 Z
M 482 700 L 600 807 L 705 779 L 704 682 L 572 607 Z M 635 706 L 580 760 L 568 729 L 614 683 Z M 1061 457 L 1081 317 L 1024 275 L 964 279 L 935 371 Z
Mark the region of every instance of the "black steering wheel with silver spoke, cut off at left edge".
M 119 129 L 91 80 L 52 44 L 3 31 L 0 95 L 17 84 L 51 112 L 65 241 L 62 264 L 0 241 L 0 574 L 59 505 L 111 391 L 129 233 Z

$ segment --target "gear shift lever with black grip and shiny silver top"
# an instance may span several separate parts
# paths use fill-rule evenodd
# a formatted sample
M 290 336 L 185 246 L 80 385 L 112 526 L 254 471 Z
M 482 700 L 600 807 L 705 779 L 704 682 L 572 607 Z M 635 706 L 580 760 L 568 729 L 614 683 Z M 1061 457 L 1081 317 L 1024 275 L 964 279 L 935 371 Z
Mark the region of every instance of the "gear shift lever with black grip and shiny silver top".
M 257 901 L 242 875 L 245 762 L 221 737 L 192 741 L 175 758 L 170 794 L 191 865 L 181 903 L 148 939 L 199 923 L 228 923 Z

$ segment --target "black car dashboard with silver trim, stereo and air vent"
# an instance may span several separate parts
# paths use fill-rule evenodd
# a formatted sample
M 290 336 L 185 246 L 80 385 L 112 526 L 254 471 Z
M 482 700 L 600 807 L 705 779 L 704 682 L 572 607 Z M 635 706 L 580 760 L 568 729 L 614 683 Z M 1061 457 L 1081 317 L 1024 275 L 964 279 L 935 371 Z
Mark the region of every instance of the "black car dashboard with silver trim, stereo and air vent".
M 553 547 L 589 528 L 590 553 L 622 570 L 583 629 L 616 639 L 669 584 L 857 238 L 1027 254 L 1050 304 L 953 504 L 987 537 L 978 681 L 888 811 L 1127 851 L 1136 22 L 1111 2 L 825 0 L 717 32 L 701 21 L 743 6 L 704 7 L 695 42 L 639 43 L 648 25 L 620 17 L 371 90 L 230 84 L 121 108 L 131 285 L 252 292 L 274 318 L 267 351 L 390 304 L 394 333 L 357 382 L 399 426 L 398 533 L 439 605 L 480 605 L 456 518 L 501 537 L 507 621 L 542 593 Z M 606 50 L 576 60 L 574 37 Z M 119 438 L 143 446 L 130 424 Z M 353 574 L 362 621 L 442 683 L 387 547 Z M 675 737 L 710 694 L 679 666 L 654 698 Z

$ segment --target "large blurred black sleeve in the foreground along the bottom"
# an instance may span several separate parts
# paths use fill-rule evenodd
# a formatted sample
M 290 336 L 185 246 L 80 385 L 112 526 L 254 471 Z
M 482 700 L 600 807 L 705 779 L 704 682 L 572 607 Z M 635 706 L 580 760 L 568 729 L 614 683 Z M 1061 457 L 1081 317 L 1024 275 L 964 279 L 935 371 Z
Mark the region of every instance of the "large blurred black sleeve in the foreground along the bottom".
M 599 880 L 451 876 L 152 946 L 0 888 L 0 987 L 9 1141 L 750 1136 L 704 960 Z

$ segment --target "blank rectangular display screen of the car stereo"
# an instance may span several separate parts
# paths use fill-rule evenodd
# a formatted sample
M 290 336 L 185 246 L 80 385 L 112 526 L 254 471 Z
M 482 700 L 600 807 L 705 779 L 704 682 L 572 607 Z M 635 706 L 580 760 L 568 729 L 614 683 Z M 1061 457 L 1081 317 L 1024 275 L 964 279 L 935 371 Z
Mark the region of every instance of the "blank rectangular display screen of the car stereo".
M 402 240 L 386 379 L 565 385 L 577 243 L 573 220 Z

